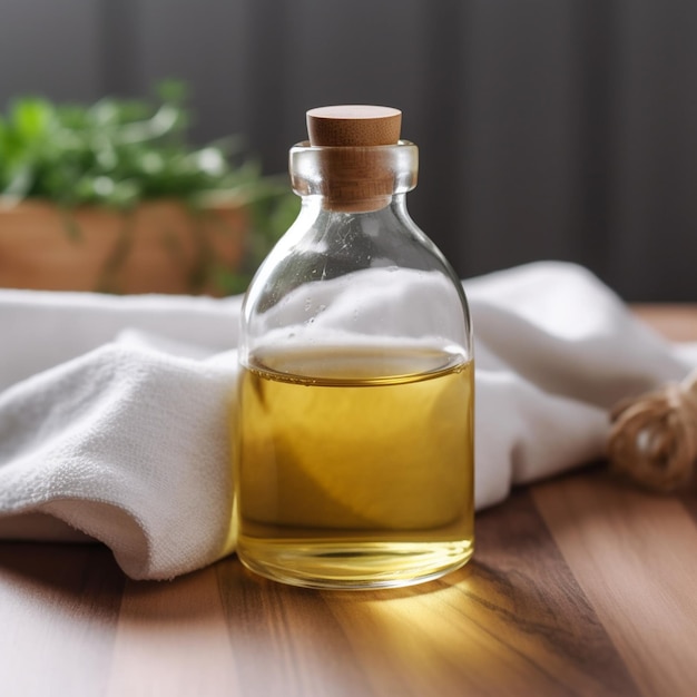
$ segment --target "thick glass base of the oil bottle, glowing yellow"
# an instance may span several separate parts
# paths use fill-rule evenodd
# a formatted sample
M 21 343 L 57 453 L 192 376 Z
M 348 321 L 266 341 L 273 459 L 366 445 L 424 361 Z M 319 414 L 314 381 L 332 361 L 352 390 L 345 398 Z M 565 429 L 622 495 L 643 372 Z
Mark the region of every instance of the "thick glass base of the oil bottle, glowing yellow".
M 431 581 L 463 567 L 471 541 L 438 543 L 292 543 L 240 540 L 237 556 L 251 571 L 303 588 L 367 590 Z

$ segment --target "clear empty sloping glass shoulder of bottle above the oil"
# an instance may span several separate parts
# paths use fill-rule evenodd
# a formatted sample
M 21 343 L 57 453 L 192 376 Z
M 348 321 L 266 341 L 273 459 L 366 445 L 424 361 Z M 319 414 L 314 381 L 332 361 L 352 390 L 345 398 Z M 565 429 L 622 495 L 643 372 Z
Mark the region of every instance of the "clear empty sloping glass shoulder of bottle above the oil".
M 405 212 L 301 218 L 247 292 L 243 334 L 249 343 L 345 335 L 455 344 L 469 354 L 462 285 Z

